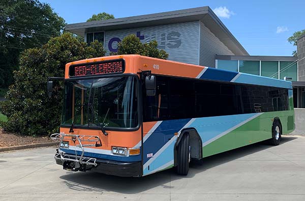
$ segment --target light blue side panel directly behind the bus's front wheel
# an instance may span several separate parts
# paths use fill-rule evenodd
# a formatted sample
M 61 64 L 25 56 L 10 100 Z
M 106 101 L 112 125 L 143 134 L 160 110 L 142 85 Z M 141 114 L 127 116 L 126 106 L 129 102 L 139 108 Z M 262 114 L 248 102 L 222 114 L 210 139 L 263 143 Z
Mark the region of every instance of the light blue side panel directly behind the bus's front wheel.
M 189 127 L 197 130 L 204 143 L 255 115 L 257 113 L 198 118 Z

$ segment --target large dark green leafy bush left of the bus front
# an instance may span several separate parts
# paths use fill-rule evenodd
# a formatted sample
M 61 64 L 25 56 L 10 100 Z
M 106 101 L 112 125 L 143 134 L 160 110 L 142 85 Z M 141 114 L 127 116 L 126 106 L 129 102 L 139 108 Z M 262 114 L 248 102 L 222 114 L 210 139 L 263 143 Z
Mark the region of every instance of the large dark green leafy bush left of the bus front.
M 15 83 L 9 87 L 7 101 L 0 103 L 0 113 L 8 117 L 8 122 L 0 122 L 0 126 L 23 135 L 58 132 L 64 86 L 54 82 L 53 96 L 49 99 L 47 77 L 63 77 L 66 63 L 104 55 L 103 45 L 98 41 L 88 46 L 70 33 L 51 38 L 41 48 L 25 50 L 20 68 L 14 72 Z

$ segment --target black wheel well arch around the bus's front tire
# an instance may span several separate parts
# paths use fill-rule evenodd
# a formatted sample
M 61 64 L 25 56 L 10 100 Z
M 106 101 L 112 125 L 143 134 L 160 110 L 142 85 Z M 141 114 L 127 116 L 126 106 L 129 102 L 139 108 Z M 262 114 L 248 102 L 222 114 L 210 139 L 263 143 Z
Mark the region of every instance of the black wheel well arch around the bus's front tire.
M 191 159 L 200 160 L 202 158 L 202 140 L 195 128 L 186 128 L 181 131 L 174 147 L 174 166 L 177 165 L 177 148 L 183 135 L 189 134 L 189 144 L 191 146 Z

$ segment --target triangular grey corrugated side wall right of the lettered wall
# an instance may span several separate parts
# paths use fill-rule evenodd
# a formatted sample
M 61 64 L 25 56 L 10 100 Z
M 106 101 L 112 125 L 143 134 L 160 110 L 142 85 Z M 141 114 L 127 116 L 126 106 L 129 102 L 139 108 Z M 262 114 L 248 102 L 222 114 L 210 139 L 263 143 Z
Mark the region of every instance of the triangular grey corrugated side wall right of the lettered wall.
M 200 58 L 201 66 L 215 67 L 215 55 L 234 55 L 211 31 L 200 22 Z

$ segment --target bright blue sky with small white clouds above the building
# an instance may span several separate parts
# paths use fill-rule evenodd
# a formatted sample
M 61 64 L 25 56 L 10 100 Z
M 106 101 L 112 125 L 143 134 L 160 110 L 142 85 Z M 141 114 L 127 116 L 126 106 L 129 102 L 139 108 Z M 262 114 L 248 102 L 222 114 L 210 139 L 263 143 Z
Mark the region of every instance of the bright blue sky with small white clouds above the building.
M 85 22 L 106 12 L 115 18 L 209 6 L 250 55 L 291 56 L 296 49 L 287 39 L 305 29 L 304 0 L 40 0 L 66 23 Z

